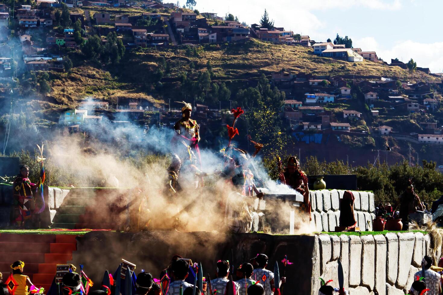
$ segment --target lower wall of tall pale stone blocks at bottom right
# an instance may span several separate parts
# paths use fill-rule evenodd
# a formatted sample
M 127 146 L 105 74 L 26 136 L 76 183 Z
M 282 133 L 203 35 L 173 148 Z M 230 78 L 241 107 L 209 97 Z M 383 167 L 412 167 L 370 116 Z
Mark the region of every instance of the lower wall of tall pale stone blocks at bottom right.
M 319 289 L 319 277 L 333 280 L 331 285 L 338 287 L 340 259 L 344 287 L 350 295 L 404 295 L 412 285 L 414 273 L 420 270 L 424 255 L 431 252 L 430 247 L 429 235 L 422 233 L 316 235 L 312 290 Z

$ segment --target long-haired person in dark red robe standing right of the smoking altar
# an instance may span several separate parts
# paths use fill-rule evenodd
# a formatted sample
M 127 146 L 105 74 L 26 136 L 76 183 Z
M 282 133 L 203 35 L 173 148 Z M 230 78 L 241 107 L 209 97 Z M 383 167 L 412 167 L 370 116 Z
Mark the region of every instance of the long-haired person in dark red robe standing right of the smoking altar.
M 295 189 L 303 195 L 303 204 L 300 208 L 311 217 L 311 202 L 309 201 L 309 188 L 307 185 L 307 175 L 300 169 L 300 163 L 296 157 L 289 157 L 288 165 L 284 171 L 281 169 L 281 161 L 278 162 L 280 181 L 283 184 Z

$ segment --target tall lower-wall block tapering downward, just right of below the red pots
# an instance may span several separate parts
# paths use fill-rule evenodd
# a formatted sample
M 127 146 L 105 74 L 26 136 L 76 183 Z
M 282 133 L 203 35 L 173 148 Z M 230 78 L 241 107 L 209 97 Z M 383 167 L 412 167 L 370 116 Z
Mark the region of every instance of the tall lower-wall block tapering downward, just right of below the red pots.
M 396 287 L 404 288 L 414 253 L 414 233 L 398 233 L 398 276 Z

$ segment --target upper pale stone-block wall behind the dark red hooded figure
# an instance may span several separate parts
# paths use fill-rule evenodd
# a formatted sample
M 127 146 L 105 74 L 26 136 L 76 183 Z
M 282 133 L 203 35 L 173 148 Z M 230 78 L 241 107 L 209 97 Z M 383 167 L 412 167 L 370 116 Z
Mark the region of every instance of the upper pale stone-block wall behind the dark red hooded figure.
M 312 225 L 316 231 L 335 231 L 340 218 L 340 199 L 343 190 L 310 191 L 309 199 L 312 207 Z M 354 215 L 361 231 L 372 230 L 375 218 L 374 194 L 372 192 L 352 192 L 355 197 Z

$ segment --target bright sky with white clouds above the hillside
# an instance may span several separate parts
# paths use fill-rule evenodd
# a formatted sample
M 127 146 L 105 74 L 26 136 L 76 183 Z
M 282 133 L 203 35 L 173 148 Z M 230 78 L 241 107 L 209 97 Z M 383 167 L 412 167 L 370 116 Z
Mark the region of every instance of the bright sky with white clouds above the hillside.
M 259 23 L 264 9 L 276 27 L 309 35 L 311 40 L 334 40 L 337 33 L 353 47 L 443 71 L 442 0 L 196 0 L 200 12 L 232 13 L 248 25 Z M 185 0 L 180 0 L 183 5 Z

